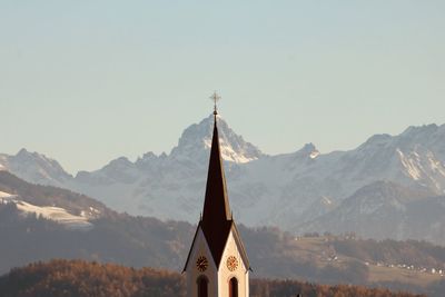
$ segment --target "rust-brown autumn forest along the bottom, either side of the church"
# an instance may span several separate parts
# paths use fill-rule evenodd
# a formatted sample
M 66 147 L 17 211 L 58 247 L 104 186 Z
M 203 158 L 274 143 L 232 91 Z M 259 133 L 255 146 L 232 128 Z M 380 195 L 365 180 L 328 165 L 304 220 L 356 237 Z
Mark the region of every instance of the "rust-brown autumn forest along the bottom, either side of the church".
M 0 277 L 3 297 L 171 297 L 186 296 L 185 278 L 178 273 L 81 260 L 52 260 L 16 268 Z M 407 293 L 358 286 L 319 286 L 297 280 L 253 279 L 251 297 L 408 297 Z

